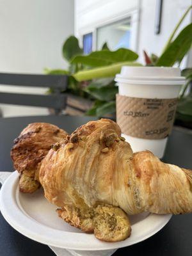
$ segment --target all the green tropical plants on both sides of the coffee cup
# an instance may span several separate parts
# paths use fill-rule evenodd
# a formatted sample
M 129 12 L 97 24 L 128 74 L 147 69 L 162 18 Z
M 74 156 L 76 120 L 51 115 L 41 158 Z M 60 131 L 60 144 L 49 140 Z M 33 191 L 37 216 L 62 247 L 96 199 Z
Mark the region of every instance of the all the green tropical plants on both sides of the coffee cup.
M 182 20 L 186 17 L 192 6 L 184 13 L 179 23 L 168 39 L 160 56 L 144 51 L 145 65 L 172 67 L 179 66 L 184 56 L 188 53 L 192 43 L 192 23 L 186 26 L 179 35 L 177 33 Z M 68 61 L 67 70 L 46 70 L 49 74 L 68 74 L 68 91 L 81 97 L 88 97 L 94 101 L 88 115 L 104 116 L 115 113 L 115 95 L 118 92 L 114 77 L 120 72 L 123 65 L 141 65 L 137 62 L 138 54 L 129 49 L 110 51 L 104 44 L 100 51 L 94 51 L 88 55 L 83 54 L 79 42 L 75 36 L 70 36 L 63 44 L 63 58 Z M 178 118 L 184 116 L 192 120 L 192 97 L 185 96 L 185 92 L 191 83 L 192 68 L 184 70 L 187 82 L 180 93 L 180 102 L 177 109 Z

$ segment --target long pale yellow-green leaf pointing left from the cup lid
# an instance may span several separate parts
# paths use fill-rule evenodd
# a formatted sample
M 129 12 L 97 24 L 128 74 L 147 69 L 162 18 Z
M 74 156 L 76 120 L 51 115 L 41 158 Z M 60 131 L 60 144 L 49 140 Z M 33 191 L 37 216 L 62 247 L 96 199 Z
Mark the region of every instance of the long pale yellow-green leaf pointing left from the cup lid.
M 101 77 L 114 77 L 120 73 L 122 66 L 142 66 L 140 63 L 125 61 L 109 65 L 107 67 L 92 68 L 90 70 L 79 71 L 73 76 L 77 81 L 91 80 Z

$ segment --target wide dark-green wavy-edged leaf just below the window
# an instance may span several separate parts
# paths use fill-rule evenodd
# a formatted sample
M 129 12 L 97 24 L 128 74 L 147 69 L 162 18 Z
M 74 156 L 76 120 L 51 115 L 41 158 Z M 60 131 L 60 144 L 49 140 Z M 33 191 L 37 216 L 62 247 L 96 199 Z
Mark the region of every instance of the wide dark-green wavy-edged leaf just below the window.
M 101 67 L 122 61 L 135 61 L 138 54 L 129 49 L 118 49 L 117 51 L 95 51 L 86 56 L 76 56 L 71 63 L 81 63 L 90 67 Z

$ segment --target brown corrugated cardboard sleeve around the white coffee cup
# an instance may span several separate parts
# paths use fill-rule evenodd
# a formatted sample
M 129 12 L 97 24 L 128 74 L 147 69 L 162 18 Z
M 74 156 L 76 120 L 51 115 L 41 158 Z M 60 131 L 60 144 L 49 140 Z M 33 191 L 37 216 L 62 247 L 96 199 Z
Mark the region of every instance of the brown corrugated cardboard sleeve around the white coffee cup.
M 116 95 L 116 122 L 122 133 L 148 140 L 166 138 L 172 131 L 176 99 L 142 99 Z

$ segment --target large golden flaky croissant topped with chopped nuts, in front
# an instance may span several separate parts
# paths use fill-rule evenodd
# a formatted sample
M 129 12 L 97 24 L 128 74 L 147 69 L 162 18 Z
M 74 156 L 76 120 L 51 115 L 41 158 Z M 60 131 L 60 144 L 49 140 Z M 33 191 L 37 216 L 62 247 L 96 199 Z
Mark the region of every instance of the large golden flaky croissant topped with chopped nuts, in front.
M 40 166 L 45 197 L 60 207 L 59 216 L 104 241 L 130 236 L 124 212 L 192 212 L 192 172 L 149 151 L 133 154 L 120 134 L 111 120 L 88 122 L 49 150 Z

